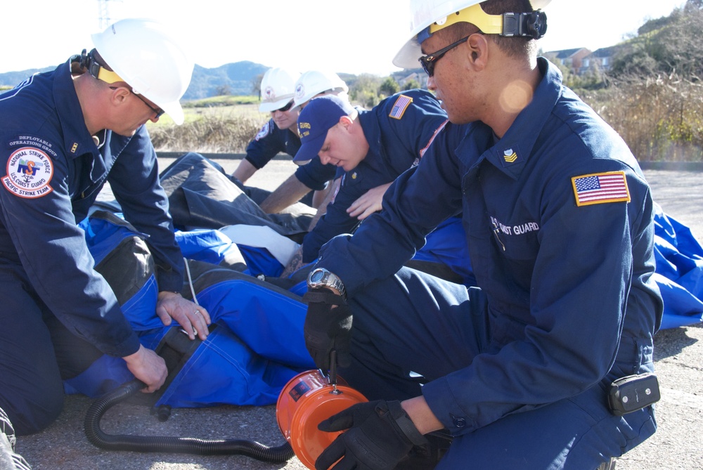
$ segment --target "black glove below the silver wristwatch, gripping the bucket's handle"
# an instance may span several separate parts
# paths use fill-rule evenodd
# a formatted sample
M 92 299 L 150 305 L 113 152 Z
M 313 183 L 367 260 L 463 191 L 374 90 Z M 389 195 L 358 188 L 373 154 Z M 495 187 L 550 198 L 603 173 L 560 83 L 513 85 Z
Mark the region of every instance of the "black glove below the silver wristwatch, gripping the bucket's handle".
M 352 338 L 352 308 L 342 296 L 329 289 L 310 289 L 303 296 L 308 304 L 305 317 L 305 346 L 323 372 L 330 370 L 330 353 L 337 351 L 337 363 L 352 364 L 349 341 Z M 333 306 L 336 306 L 333 308 Z

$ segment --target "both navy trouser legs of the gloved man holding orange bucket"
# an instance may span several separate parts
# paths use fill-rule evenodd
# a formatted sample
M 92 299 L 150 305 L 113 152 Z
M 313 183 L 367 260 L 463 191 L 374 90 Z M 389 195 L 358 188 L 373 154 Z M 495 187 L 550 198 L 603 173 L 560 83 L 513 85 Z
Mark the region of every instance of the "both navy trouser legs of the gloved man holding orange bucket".
M 370 400 L 418 396 L 424 381 L 491 352 L 480 289 L 403 268 L 350 303 L 352 365 L 340 376 Z M 579 396 L 455 436 L 437 470 L 594 470 L 606 460 L 602 455 L 621 455 L 641 442 L 642 429 L 655 426 L 652 410 L 623 419 L 607 410 L 605 400 L 605 384 L 596 384 Z

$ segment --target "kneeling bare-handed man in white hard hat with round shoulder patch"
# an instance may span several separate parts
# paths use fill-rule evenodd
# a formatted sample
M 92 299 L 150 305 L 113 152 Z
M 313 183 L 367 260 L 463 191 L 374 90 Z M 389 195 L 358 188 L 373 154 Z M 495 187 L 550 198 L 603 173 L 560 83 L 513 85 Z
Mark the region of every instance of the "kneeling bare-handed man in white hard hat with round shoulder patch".
M 93 270 L 76 225 L 105 182 L 125 218 L 148 234 L 157 315 L 207 336 L 207 311 L 177 293 L 183 259 L 144 127 L 165 112 L 183 122 L 179 99 L 193 62 L 150 20 L 116 22 L 93 42 L 91 52 L 0 95 L 0 407 L 18 434 L 53 422 L 62 379 L 103 353 L 124 358 L 144 391 L 167 377 Z

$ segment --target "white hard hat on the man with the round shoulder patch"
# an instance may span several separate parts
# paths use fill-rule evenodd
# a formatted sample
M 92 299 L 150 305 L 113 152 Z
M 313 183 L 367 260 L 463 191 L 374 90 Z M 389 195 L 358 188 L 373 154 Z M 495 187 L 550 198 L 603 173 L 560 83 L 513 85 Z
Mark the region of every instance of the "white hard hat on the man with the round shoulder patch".
M 193 74 L 193 61 L 155 20 L 127 19 L 92 35 L 105 63 L 139 93 L 183 124 L 179 100 Z

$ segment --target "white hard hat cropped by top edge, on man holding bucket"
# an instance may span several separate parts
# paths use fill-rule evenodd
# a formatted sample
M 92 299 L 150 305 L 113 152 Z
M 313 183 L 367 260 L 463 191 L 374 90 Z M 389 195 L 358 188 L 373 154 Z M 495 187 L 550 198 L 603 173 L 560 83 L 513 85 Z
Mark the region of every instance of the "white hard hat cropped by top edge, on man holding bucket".
M 416 68 L 418 67 L 418 58 L 423 55 L 420 45 L 423 43 L 426 36 L 418 39 L 418 34 L 427 30 L 433 23 L 436 23 L 434 30 L 436 32 L 441 30 L 443 27 L 447 27 L 453 22 L 451 18 L 448 21 L 449 15 L 452 13 L 458 13 L 471 6 L 477 6 L 484 0 L 410 0 L 410 39 L 404 44 L 401 50 L 396 54 L 393 59 L 393 64 L 397 67 L 403 68 Z M 530 0 L 532 8 L 537 10 L 546 6 L 551 0 Z M 502 25 L 502 18 L 498 15 L 484 15 L 489 18 L 482 18 L 488 22 L 493 22 L 493 20 L 500 21 Z M 495 18 L 493 18 L 495 16 Z M 474 21 L 472 21 L 474 22 Z M 474 22 L 476 24 L 476 22 Z M 491 28 L 498 27 L 501 25 L 492 24 Z M 480 25 L 477 25 L 480 27 Z M 430 28 L 432 29 L 432 28 Z M 489 31 L 484 31 L 489 33 Z

